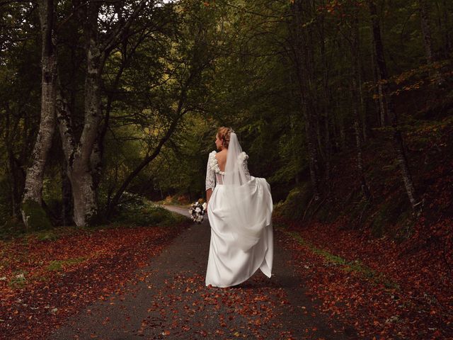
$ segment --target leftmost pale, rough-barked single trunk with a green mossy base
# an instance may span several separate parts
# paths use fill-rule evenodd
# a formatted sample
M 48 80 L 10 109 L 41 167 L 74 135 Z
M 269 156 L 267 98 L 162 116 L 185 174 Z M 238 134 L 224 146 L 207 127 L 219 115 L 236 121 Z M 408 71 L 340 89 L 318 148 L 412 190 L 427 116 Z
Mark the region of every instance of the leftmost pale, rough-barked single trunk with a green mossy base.
M 31 157 L 32 164 L 25 177 L 21 209 L 25 226 L 33 229 L 51 225 L 45 210 L 42 209 L 42 181 L 47 154 L 52 146 L 55 131 L 55 79 L 57 73 L 57 58 L 52 42 L 53 1 L 42 0 L 39 1 L 38 6 L 42 35 L 41 118 L 38 137 Z

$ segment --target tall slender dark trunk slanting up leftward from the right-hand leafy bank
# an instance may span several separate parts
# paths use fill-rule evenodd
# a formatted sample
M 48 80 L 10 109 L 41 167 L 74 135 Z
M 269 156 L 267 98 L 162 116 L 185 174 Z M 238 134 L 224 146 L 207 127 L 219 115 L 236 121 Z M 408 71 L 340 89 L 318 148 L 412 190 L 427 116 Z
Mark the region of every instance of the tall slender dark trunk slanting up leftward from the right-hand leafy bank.
M 393 133 L 393 147 L 396 153 L 396 159 L 398 161 L 401 176 L 403 176 L 404 186 L 406 193 L 411 202 L 413 210 L 415 210 L 420 202 L 418 201 L 417 194 L 415 193 L 415 187 L 413 185 L 411 172 L 409 171 L 408 161 L 406 159 L 406 152 L 404 150 L 403 136 L 398 128 L 398 120 L 394 107 L 393 98 L 391 98 L 391 91 L 389 84 L 386 82 L 389 79 L 387 74 L 386 62 L 384 58 L 384 46 L 382 45 L 381 28 L 379 24 L 379 18 L 377 16 L 377 8 L 373 0 L 369 0 L 369 12 L 372 18 L 373 28 L 373 39 L 376 52 L 377 66 L 379 70 L 380 78 L 382 79 L 382 92 L 386 98 L 387 113 L 389 114 L 392 133 Z

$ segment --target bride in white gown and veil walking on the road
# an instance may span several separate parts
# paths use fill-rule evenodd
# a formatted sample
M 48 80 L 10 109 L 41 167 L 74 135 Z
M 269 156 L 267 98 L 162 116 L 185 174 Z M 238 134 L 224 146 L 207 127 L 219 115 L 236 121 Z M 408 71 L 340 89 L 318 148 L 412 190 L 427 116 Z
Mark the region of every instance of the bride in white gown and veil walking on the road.
M 229 287 L 258 268 L 270 278 L 273 263 L 273 201 L 265 179 L 248 172 L 248 155 L 231 128 L 219 128 L 219 152 L 207 161 L 207 215 L 211 225 L 206 285 Z

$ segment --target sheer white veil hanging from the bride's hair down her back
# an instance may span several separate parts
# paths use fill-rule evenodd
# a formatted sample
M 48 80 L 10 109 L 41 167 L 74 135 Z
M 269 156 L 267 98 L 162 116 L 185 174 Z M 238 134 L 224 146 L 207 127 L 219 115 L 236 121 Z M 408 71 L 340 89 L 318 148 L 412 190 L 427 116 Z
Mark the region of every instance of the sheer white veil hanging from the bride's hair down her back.
M 264 227 L 270 223 L 268 207 L 262 199 L 263 188 L 257 178 L 248 174 L 244 164 L 246 159 L 236 133 L 231 130 L 224 174 L 225 201 L 222 205 L 229 208 L 224 222 L 231 227 L 236 244 L 244 251 L 258 243 Z

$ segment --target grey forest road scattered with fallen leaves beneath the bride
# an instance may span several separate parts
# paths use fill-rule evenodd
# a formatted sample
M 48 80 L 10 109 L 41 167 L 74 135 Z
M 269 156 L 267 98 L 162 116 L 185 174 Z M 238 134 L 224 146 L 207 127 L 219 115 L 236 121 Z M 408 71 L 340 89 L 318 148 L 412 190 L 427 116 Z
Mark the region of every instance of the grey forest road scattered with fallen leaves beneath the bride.
M 348 339 L 305 295 L 282 242 L 276 231 L 272 278 L 258 271 L 234 288 L 207 288 L 206 219 L 137 269 L 141 280 L 87 306 L 48 339 Z

